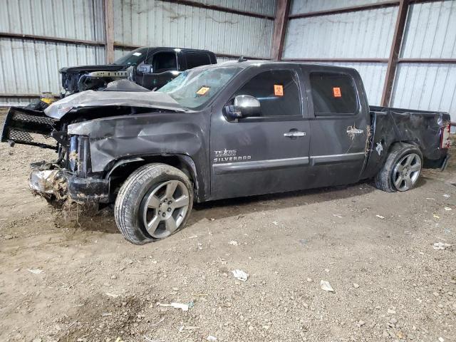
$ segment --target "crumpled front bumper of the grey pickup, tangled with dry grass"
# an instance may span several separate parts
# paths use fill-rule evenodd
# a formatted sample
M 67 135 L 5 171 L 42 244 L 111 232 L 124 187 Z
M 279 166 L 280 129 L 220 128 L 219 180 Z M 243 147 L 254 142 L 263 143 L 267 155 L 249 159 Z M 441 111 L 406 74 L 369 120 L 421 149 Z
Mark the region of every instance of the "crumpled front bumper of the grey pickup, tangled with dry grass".
M 74 202 L 109 202 L 109 181 L 99 178 L 81 178 L 65 170 L 33 169 L 28 185 L 35 195 L 48 199 L 71 199 Z

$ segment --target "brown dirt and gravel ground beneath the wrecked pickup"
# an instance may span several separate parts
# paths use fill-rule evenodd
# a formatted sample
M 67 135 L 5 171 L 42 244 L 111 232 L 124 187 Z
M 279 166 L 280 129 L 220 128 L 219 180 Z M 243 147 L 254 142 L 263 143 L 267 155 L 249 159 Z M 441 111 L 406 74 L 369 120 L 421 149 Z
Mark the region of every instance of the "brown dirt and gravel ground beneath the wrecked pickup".
M 138 247 L 109 210 L 31 195 L 28 164 L 53 157 L 0 144 L 0 341 L 456 341 L 456 249 L 433 248 L 456 244 L 455 160 L 410 192 L 199 204 Z M 190 309 L 159 305 L 173 302 Z

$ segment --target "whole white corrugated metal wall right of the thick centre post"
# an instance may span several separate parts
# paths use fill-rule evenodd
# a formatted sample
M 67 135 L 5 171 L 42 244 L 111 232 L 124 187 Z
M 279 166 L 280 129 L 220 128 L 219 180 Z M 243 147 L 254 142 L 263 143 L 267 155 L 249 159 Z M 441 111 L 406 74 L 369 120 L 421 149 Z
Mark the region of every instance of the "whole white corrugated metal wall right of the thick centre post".
M 376 0 L 292 0 L 291 15 Z M 388 58 L 398 6 L 290 19 L 283 58 Z M 456 0 L 410 4 L 400 58 L 456 58 Z M 331 63 L 331 62 L 328 62 Z M 368 100 L 380 105 L 387 63 L 331 63 L 356 68 Z M 444 110 L 456 121 L 455 63 L 398 63 L 390 105 Z

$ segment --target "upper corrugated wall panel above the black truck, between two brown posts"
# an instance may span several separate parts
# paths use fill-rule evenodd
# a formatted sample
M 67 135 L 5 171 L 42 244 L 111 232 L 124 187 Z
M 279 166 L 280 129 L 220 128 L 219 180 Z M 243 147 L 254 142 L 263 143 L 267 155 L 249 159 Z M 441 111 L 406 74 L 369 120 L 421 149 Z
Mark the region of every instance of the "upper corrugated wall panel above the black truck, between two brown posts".
M 269 4 L 269 2 L 268 2 Z M 269 58 L 274 21 L 165 1 L 115 0 L 115 41 Z

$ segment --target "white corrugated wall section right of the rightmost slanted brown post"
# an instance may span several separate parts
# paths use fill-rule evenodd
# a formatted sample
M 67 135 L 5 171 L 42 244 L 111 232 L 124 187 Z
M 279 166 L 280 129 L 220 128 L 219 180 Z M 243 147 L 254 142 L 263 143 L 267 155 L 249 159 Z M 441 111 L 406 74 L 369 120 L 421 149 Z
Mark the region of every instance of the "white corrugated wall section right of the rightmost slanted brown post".
M 456 58 L 456 1 L 410 6 L 402 58 Z M 400 63 L 392 105 L 450 112 L 456 122 L 456 64 Z

